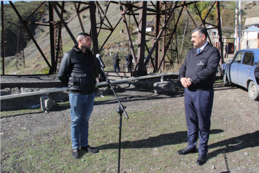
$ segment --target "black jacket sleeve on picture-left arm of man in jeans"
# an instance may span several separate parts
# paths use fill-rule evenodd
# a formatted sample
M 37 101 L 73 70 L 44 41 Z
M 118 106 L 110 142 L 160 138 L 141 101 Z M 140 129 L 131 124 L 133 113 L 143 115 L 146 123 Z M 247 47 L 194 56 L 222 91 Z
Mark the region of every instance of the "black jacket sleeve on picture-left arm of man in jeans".
M 60 70 L 58 71 L 57 77 L 60 79 L 60 81 L 65 84 L 66 86 L 69 85 L 69 73 L 71 72 L 71 61 L 70 61 L 70 53 L 64 53 L 64 56 L 62 57 L 62 61 L 60 64 Z

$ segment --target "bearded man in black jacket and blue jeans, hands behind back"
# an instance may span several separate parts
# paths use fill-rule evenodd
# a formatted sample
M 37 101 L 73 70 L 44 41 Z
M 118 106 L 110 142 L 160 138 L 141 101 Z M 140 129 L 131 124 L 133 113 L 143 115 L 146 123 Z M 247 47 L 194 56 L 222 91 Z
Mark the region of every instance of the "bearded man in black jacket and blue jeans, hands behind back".
M 78 45 L 64 53 L 58 78 L 69 88 L 71 105 L 72 156 L 79 157 L 79 149 L 97 153 L 88 145 L 89 118 L 93 110 L 96 78 L 100 73 L 98 59 L 90 51 L 91 37 L 87 33 L 78 35 Z

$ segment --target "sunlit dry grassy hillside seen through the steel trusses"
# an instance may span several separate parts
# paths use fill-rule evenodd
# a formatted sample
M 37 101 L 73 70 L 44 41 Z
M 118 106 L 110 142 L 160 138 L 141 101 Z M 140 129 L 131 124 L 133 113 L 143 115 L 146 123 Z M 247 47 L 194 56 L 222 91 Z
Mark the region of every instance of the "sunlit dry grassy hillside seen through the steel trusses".
M 105 9 L 105 1 L 101 1 L 100 5 Z M 82 8 L 82 7 L 81 7 Z M 229 11 L 225 11 L 222 15 L 223 17 L 228 17 L 228 12 L 233 12 L 235 8 L 235 2 L 230 2 L 229 6 L 227 6 Z M 242 22 L 244 23 L 245 17 L 256 17 L 259 16 L 258 14 L 258 8 L 259 8 L 259 2 L 258 1 L 242 1 Z M 66 2 L 65 10 L 67 11 L 65 14 L 66 22 L 73 33 L 74 37 L 78 35 L 78 33 L 81 33 L 81 27 L 80 23 L 78 22 L 78 17 L 76 13 L 74 12 L 75 7 L 73 5 L 73 2 Z M 46 10 L 42 15 L 41 21 L 48 21 L 48 10 Z M 231 13 L 232 14 L 232 13 Z M 89 10 L 86 10 L 81 13 L 82 17 L 82 23 L 84 25 L 84 29 L 87 33 L 89 33 L 90 29 L 90 19 L 89 19 Z M 109 18 L 109 21 L 111 22 L 112 26 L 115 26 L 118 19 L 120 19 L 120 12 L 118 5 L 111 3 L 109 6 L 109 11 L 107 13 L 107 17 Z M 150 17 L 150 16 L 148 16 Z M 58 19 L 55 17 L 55 19 Z M 134 24 L 133 17 L 132 24 Z M 98 15 L 96 15 L 97 23 L 100 22 L 100 18 Z M 185 24 L 185 23 L 184 23 Z M 226 24 L 226 23 L 225 23 Z M 223 29 L 223 35 L 228 33 L 233 33 L 233 30 L 229 30 L 229 27 L 227 24 L 224 24 L 224 20 L 222 21 L 222 29 Z M 226 26 L 226 28 L 224 28 Z M 136 26 L 131 26 L 132 30 L 136 28 Z M 123 46 L 123 40 L 126 42 L 127 37 L 120 33 L 120 30 L 124 30 L 123 23 L 120 22 L 118 24 L 118 27 L 114 31 L 114 33 L 111 35 L 109 42 L 105 45 L 105 47 L 109 48 L 111 45 L 120 44 L 120 46 Z M 181 30 L 182 32 L 182 30 Z M 42 48 L 42 51 L 46 55 L 48 62 L 51 62 L 51 55 L 50 55 L 50 47 L 49 47 L 49 29 L 47 26 L 38 26 L 35 29 L 35 39 L 37 40 L 37 43 L 39 44 L 40 48 Z M 100 33 L 98 37 L 98 44 L 101 45 L 102 42 L 105 41 L 107 38 L 107 35 L 109 35 L 109 31 L 104 31 Z M 181 35 L 181 33 L 179 34 Z M 186 35 L 187 36 L 187 35 Z M 134 39 L 137 39 L 136 35 L 133 36 Z M 149 38 L 147 38 L 149 39 Z M 179 38 L 179 41 L 181 38 Z M 186 42 L 188 42 L 188 37 L 186 37 Z M 73 47 L 73 41 L 71 40 L 69 34 L 66 32 L 65 28 L 62 28 L 62 44 L 63 44 L 63 52 L 69 51 Z M 150 43 L 149 43 L 150 44 Z M 181 42 L 178 42 L 178 44 L 181 44 Z M 189 43 L 190 44 L 190 43 Z M 109 46 L 110 45 L 110 46 Z M 120 50 L 121 51 L 121 50 Z M 127 49 L 125 50 L 127 52 Z M 122 54 L 120 54 L 122 55 Z M 18 68 L 16 68 L 16 56 L 14 57 L 6 57 L 5 64 L 6 64 L 6 74 L 42 74 L 42 73 L 48 73 L 48 66 L 44 59 L 42 58 L 42 55 L 40 55 L 39 51 L 37 50 L 35 44 L 33 44 L 32 41 L 28 42 L 26 48 L 24 48 L 24 56 L 25 56 L 25 62 L 26 62 L 26 68 L 19 65 Z M 111 70 L 112 68 L 109 67 L 111 65 L 111 61 L 109 60 L 109 55 L 107 54 L 107 57 L 105 57 L 105 64 L 107 63 L 107 69 Z M 21 60 L 19 60 L 21 61 Z M 110 68 L 110 69 L 109 69 Z

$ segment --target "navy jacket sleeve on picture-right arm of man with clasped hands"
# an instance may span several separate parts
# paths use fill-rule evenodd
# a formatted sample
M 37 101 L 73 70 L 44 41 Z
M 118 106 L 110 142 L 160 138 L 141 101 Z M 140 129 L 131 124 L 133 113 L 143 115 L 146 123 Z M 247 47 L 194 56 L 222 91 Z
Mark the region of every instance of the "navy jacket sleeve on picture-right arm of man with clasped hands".
M 196 75 L 196 78 L 192 78 L 192 82 L 194 84 L 197 84 L 199 82 L 202 82 L 204 80 L 208 80 L 208 78 L 211 78 L 217 73 L 217 66 L 220 63 L 220 51 L 217 48 L 214 48 L 214 50 L 211 52 L 210 57 L 208 58 L 208 63 L 206 68 L 202 69 L 202 71 L 199 71 Z

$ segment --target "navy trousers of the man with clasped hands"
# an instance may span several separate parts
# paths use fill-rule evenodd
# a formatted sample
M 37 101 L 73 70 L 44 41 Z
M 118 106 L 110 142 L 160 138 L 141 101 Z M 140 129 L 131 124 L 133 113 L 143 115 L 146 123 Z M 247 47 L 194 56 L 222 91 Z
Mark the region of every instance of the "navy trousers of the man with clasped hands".
M 199 136 L 199 154 L 207 154 L 208 152 L 213 98 L 213 89 L 209 91 L 189 91 L 185 89 L 184 91 L 188 148 L 196 147 Z

